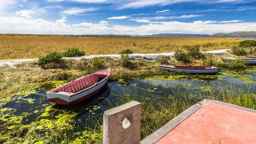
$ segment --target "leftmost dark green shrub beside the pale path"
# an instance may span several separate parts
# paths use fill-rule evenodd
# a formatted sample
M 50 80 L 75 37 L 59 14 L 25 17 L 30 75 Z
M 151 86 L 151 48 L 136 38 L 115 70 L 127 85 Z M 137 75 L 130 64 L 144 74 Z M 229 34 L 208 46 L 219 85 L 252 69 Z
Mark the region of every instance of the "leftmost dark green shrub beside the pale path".
M 60 62 L 62 58 L 62 54 L 58 52 L 51 52 L 47 54 L 45 57 L 39 58 L 38 63 L 39 65 L 45 65 L 49 62 Z

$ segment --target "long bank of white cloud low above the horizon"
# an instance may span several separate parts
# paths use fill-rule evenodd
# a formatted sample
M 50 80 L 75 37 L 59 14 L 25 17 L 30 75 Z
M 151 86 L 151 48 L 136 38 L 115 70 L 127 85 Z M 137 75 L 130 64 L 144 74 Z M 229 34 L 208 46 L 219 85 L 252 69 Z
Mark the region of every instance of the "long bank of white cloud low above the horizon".
M 234 31 L 254 31 L 256 22 L 232 22 L 219 21 L 195 21 L 184 23 L 178 21 L 150 23 L 148 20 L 143 25 L 127 26 L 108 24 L 107 21 L 99 23 L 67 24 L 66 19 L 47 21 L 44 19 L 31 19 L 27 17 L 1 17 L 1 33 L 20 34 L 116 34 L 116 35 L 152 35 L 158 33 L 192 33 L 192 34 L 215 34 L 231 33 Z M 234 20 L 235 21 L 235 20 Z

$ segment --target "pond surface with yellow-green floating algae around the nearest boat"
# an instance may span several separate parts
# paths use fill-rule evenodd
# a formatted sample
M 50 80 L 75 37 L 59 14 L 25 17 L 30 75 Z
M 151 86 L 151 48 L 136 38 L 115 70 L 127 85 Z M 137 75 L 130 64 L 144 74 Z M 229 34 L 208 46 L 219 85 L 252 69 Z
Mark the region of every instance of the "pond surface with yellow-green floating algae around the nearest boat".
M 40 88 L 0 99 L 0 143 L 79 143 L 81 136 L 100 138 L 102 130 L 90 133 L 88 129 L 94 129 L 97 122 L 102 123 L 103 112 L 121 105 L 124 98 L 161 101 L 183 94 L 184 98 L 196 101 L 200 96 L 222 95 L 224 89 L 232 88 L 256 100 L 255 67 L 242 71 L 222 70 L 216 75 L 160 75 L 120 80 L 109 82 L 97 95 L 79 104 L 50 103 L 45 92 L 63 83 L 46 82 Z

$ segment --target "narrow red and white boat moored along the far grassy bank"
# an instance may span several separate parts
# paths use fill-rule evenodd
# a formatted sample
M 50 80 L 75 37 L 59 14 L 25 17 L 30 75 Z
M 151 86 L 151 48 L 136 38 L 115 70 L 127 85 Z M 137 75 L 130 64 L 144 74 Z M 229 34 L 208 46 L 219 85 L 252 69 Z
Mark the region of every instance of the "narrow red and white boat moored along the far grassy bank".
M 172 72 L 185 72 L 191 74 L 214 74 L 219 68 L 213 66 L 183 66 L 183 65 L 159 65 L 162 69 Z

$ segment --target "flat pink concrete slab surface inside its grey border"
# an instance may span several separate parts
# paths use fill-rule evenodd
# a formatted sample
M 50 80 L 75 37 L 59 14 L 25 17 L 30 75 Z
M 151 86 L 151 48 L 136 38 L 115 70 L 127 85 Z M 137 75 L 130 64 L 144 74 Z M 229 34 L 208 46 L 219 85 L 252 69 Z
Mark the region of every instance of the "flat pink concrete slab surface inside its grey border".
M 256 144 L 256 113 L 207 102 L 157 144 Z

